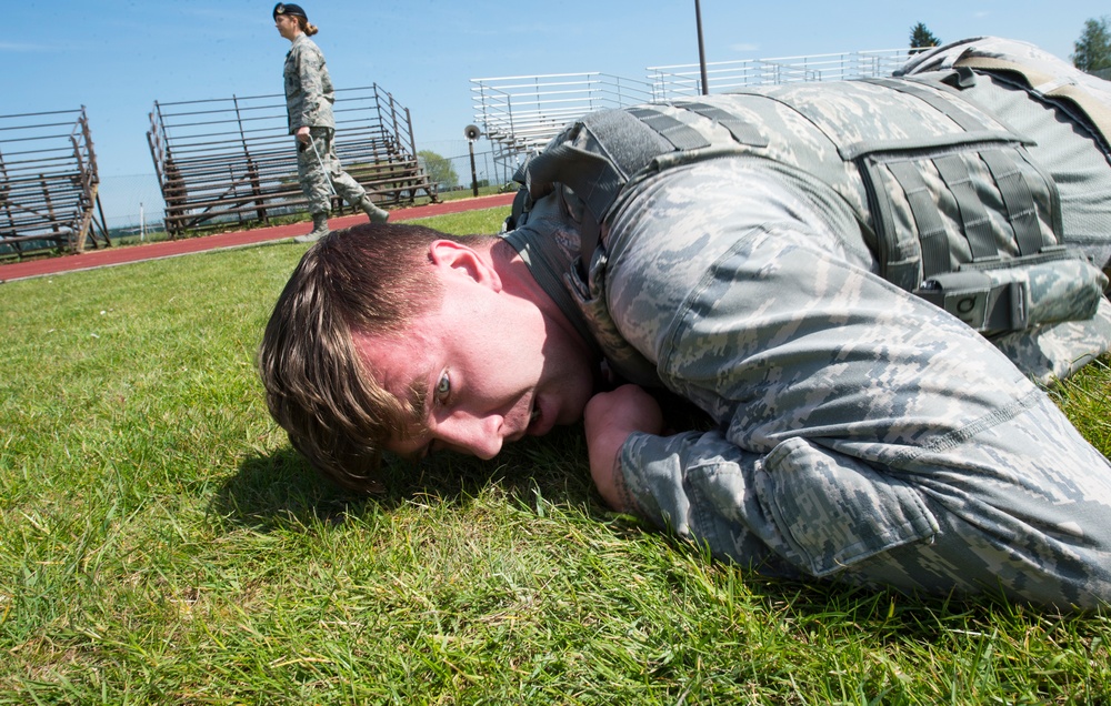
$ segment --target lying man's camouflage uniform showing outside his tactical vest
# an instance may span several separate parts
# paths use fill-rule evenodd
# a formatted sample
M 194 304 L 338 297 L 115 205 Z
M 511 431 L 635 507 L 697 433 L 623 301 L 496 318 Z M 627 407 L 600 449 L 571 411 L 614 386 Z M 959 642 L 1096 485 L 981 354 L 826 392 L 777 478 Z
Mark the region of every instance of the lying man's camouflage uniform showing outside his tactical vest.
M 1090 252 L 1111 233 L 1103 201 Z M 581 221 L 560 189 L 507 238 L 614 370 L 717 424 L 630 436 L 620 466 L 641 514 L 772 575 L 1111 601 L 1111 463 L 1005 346 L 879 276 L 843 193 L 747 154 L 650 171 L 587 272 Z M 1111 303 L 1097 306 L 1077 324 L 1093 353 L 1111 343 Z

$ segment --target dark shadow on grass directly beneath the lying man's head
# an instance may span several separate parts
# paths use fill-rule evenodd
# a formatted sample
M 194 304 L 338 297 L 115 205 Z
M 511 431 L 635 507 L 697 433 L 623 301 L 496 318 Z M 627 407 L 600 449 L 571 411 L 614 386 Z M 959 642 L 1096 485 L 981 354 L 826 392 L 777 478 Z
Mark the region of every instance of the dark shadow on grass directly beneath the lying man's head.
M 291 446 L 243 458 L 209 511 L 236 526 L 271 531 L 309 521 L 339 522 L 344 515 L 390 512 L 420 501 L 466 506 L 497 485 L 512 502 L 536 510 L 539 502 L 605 508 L 593 493 L 581 426 L 561 428 L 543 440 L 527 438 L 492 461 L 438 454 L 421 463 L 388 460 L 383 493 L 348 491 L 317 474 Z

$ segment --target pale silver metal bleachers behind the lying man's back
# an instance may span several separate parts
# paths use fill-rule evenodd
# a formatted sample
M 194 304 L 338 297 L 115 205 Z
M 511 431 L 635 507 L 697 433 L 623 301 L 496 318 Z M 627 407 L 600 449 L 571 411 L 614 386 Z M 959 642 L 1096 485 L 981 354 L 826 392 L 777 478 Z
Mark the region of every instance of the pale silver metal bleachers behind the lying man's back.
M 907 61 L 908 49 L 748 59 L 707 64 L 711 93 L 792 81 L 885 77 Z M 702 93 L 701 67 L 650 67 L 644 80 L 608 73 L 559 73 L 471 79 L 474 119 L 497 159 L 520 162 L 543 150 L 570 121 L 594 110 L 624 108 Z

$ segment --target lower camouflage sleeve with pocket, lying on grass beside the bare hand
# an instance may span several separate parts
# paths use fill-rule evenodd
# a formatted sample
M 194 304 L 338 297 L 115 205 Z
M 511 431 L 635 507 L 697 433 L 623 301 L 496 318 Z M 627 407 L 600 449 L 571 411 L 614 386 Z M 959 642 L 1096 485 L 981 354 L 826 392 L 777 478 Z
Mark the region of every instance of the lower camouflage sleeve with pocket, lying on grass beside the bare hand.
M 765 574 L 827 576 L 939 530 L 908 483 L 801 437 L 760 454 L 719 432 L 634 434 L 621 464 L 644 516 Z

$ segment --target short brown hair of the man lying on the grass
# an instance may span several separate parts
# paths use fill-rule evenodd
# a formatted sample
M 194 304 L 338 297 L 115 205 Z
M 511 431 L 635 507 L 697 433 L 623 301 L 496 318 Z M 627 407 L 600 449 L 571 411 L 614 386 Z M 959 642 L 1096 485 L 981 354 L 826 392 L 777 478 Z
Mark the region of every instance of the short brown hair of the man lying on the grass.
M 401 335 L 440 303 L 433 241 L 460 238 L 421 225 L 333 231 L 301 258 L 259 345 L 267 406 L 294 448 L 349 488 L 378 490 L 383 444 L 414 411 L 366 370 L 356 334 Z

